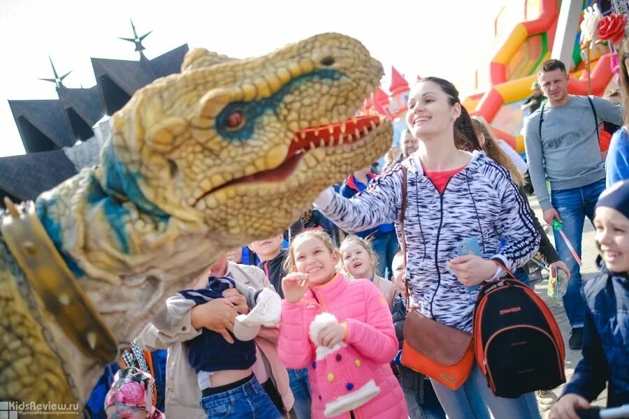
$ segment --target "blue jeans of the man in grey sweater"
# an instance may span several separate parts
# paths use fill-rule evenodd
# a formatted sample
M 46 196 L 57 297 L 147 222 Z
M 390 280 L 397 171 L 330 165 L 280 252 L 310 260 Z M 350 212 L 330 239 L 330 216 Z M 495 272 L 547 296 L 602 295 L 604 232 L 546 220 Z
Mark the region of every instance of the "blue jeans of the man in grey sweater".
M 604 189 L 605 179 L 600 179 L 598 182 L 580 188 L 551 191 L 551 203 L 561 216 L 563 233 L 572 243 L 572 247 L 577 251 L 579 258 L 581 257 L 581 237 L 583 236 L 585 217 L 588 217 L 592 222 L 594 221 L 594 207 L 598 201 L 598 196 Z M 579 264 L 563 241 L 563 237 L 557 231 L 554 231 L 554 235 L 557 253 L 570 269 L 570 280 L 563 296 L 565 314 L 572 328 L 582 328 L 586 306 L 581 295 L 583 280 L 581 279 Z

